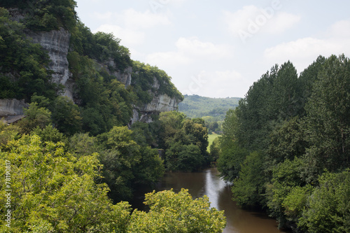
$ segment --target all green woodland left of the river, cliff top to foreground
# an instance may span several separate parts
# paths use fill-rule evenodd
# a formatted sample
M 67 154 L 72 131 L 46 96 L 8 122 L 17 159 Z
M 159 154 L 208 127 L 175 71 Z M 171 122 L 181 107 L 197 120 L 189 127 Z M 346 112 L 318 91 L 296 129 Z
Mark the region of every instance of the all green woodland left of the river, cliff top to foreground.
M 73 0 L 0 1 L 0 99 L 29 103 L 19 122 L 0 121 L 1 232 L 221 232 L 223 211 L 188 190 L 146 194 L 147 212 L 125 202 L 166 169 L 211 162 L 207 128 L 175 111 L 130 125 L 134 107 L 156 94 L 183 96 L 165 71 L 132 61 L 113 34 L 92 34 L 75 7 Z M 70 34 L 73 100 L 52 82 L 48 51 L 27 36 L 59 29 Z M 125 85 L 111 71 L 128 67 Z

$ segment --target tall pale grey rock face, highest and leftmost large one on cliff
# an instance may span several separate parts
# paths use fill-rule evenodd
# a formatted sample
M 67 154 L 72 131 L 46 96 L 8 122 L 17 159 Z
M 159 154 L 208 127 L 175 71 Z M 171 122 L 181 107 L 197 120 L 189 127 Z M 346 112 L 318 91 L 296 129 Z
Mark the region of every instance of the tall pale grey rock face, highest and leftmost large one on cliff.
M 64 85 L 64 96 L 73 100 L 73 86 L 69 83 L 70 72 L 68 59 L 70 34 L 63 28 L 58 31 L 28 31 L 27 36 L 33 39 L 33 43 L 40 43 L 45 50 L 48 50 L 51 63 L 49 69 L 53 71 L 52 82 Z

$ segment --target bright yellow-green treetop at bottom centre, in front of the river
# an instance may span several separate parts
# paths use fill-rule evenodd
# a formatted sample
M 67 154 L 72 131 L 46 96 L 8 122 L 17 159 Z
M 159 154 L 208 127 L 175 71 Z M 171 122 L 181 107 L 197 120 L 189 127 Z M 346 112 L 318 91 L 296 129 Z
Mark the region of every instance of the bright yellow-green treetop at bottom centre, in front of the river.
M 223 211 L 210 208 L 209 198 L 193 200 L 188 190 L 178 194 L 172 190 L 146 195 L 148 213 L 132 213 L 129 232 L 222 232 L 225 227 Z

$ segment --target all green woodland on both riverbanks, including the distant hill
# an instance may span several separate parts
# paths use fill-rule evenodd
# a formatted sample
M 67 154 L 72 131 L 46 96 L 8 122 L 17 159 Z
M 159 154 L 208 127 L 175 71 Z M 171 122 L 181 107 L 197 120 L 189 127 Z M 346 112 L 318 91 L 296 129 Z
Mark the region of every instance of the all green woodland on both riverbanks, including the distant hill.
M 216 160 L 242 208 L 263 209 L 294 232 L 350 232 L 349 58 L 320 56 L 300 75 L 291 62 L 274 65 L 243 99 L 183 97 L 113 34 L 93 34 L 75 8 L 73 0 L 0 1 L 0 99 L 29 104 L 22 120 L 0 121 L 1 232 L 222 232 L 223 211 L 188 190 L 146 194 L 148 211 L 127 202 L 165 171 Z M 72 99 L 52 82 L 48 51 L 28 36 L 61 29 Z M 125 69 L 130 85 L 114 75 Z M 131 124 L 159 94 L 185 98 L 183 113 Z

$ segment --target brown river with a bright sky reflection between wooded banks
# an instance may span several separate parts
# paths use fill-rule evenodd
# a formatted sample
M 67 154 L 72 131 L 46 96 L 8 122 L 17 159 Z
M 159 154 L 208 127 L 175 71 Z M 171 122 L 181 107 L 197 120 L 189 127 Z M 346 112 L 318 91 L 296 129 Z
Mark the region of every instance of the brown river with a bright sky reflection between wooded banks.
M 227 225 L 224 233 L 281 233 L 277 229 L 276 220 L 265 213 L 245 211 L 232 201 L 230 185 L 219 176 L 216 168 L 205 169 L 195 173 L 167 173 L 157 185 L 156 191 L 169 190 L 179 192 L 181 188 L 188 189 L 193 198 L 207 195 L 211 207 L 225 211 Z

